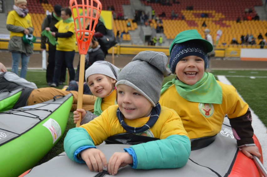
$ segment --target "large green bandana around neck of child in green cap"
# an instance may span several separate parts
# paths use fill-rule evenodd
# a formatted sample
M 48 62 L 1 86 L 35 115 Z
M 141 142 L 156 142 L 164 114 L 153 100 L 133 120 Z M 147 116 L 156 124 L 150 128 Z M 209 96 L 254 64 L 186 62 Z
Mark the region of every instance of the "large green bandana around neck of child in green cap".
M 205 72 L 202 79 L 194 85 L 187 85 L 174 78 L 161 88 L 160 94 L 165 92 L 172 84 L 175 85 L 178 94 L 188 101 L 222 104 L 222 87 L 211 73 Z

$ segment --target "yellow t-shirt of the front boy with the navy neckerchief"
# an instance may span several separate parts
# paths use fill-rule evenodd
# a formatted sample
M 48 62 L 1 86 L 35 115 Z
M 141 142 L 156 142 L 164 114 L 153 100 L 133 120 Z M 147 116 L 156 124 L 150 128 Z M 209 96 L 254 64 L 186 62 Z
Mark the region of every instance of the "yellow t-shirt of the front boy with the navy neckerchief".
M 125 133 L 126 130 L 120 125 L 116 112 L 118 105 L 109 106 L 102 114 L 89 123 L 81 125 L 89 133 L 95 145 L 101 144 L 107 137 Z M 149 117 L 142 117 L 134 120 L 123 119 L 129 126 L 140 127 L 143 126 Z M 167 107 L 161 106 L 160 116 L 156 123 L 147 131 L 139 133 L 138 135 L 146 135 L 159 139 L 165 139 L 170 135 L 186 135 L 181 118 L 177 113 Z

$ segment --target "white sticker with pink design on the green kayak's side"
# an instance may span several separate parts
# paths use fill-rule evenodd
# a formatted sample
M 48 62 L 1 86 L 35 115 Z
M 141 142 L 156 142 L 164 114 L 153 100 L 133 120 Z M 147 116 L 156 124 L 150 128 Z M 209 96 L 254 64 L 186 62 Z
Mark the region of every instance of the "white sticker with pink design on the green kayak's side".
M 50 132 L 53 137 L 53 144 L 61 136 L 60 125 L 54 119 L 49 119 L 43 124 Z

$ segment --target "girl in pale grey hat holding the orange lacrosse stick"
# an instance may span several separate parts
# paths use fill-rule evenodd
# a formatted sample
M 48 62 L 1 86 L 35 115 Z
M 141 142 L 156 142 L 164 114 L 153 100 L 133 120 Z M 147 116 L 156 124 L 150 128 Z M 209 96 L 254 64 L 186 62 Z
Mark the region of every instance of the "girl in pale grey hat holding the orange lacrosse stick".
M 120 69 L 107 61 L 95 61 L 85 71 L 85 79 L 90 91 L 97 97 L 94 106 L 94 115 L 84 109 L 77 109 L 73 112 L 73 120 L 76 124 L 80 119 L 81 125 L 89 122 L 93 118 L 100 116 L 109 106 L 117 104 L 116 87 L 117 77 Z

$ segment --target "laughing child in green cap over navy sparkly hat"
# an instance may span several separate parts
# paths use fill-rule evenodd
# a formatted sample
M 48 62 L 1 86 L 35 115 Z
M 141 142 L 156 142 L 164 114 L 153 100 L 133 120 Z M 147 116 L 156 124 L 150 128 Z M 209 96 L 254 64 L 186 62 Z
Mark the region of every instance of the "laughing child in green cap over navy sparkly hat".
M 251 113 L 233 86 L 216 81 L 206 72 L 207 53 L 212 44 L 196 30 L 179 33 L 170 46 L 170 70 L 176 77 L 161 89 L 160 104 L 174 109 L 191 139 L 191 149 L 200 149 L 194 140 L 205 137 L 209 144 L 228 116 L 237 146 L 249 158 L 260 158 L 254 144 Z M 208 145 L 208 144 L 207 144 Z

